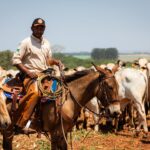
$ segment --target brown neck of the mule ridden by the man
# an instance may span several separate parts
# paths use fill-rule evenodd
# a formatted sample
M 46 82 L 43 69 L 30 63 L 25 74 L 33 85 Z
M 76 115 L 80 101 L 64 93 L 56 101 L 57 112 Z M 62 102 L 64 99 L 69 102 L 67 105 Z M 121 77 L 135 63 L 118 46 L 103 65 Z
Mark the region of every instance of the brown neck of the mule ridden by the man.
M 73 98 L 84 106 L 96 95 L 99 73 L 90 73 L 69 84 Z

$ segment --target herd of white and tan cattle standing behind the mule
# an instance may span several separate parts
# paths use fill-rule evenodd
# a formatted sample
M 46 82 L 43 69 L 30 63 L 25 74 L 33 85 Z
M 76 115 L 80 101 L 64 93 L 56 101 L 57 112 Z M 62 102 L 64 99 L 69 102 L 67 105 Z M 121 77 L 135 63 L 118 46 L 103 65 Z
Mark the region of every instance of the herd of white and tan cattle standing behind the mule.
M 74 130 L 80 129 L 80 124 L 83 123 L 83 128 L 89 129 L 92 127 L 95 131 L 99 131 L 102 116 L 107 116 L 105 117 L 106 122 L 117 120 L 114 125 L 115 132 L 120 124 L 123 124 L 134 128 L 137 135 L 143 132 L 144 136 L 147 137 L 147 116 L 150 113 L 150 62 L 145 58 L 140 58 L 134 61 L 131 67 L 126 67 L 125 63 L 120 60 L 116 64 L 108 63 L 99 66 L 110 72 L 117 67 L 114 77 L 118 84 L 121 112 L 117 117 L 107 116 L 107 112 L 100 101 L 97 100 L 97 97 L 93 97 L 81 110 Z M 54 67 L 54 69 L 55 75 L 60 76 L 58 68 Z M 78 66 L 75 69 L 65 68 L 63 72 L 65 75 L 71 75 L 77 71 L 88 69 L 94 70 L 95 68 L 93 66 L 90 68 Z M 6 80 L 15 77 L 17 73 L 18 71 L 15 70 L 6 71 L 0 68 L 0 87 Z M 112 109 L 116 108 L 112 107 Z

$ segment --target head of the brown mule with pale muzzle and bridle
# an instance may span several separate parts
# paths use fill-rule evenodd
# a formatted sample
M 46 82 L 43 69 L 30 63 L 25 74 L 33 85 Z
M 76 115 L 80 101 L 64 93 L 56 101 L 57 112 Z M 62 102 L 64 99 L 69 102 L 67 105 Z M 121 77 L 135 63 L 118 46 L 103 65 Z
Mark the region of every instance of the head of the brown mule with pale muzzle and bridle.
M 99 88 L 97 97 L 100 99 L 102 105 L 108 110 L 110 115 L 118 116 L 121 113 L 120 101 L 118 100 L 118 84 L 114 73 L 117 71 L 114 68 L 112 71 L 102 69 L 95 66 L 99 72 Z

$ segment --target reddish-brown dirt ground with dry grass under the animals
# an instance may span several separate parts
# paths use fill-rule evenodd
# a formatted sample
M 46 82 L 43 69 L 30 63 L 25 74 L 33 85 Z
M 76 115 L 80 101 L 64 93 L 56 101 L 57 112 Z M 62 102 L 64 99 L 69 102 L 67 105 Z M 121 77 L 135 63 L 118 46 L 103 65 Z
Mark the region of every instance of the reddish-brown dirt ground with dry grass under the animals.
M 150 116 L 147 118 L 150 129 Z M 13 141 L 14 150 L 50 150 L 48 139 L 42 135 L 38 139 L 37 133 L 16 135 Z M 69 150 L 71 150 L 70 136 L 68 136 Z M 133 131 L 125 128 L 118 134 L 111 132 L 94 132 L 93 130 L 78 130 L 72 132 L 73 150 L 150 150 L 149 138 L 143 141 L 142 133 L 139 137 L 133 136 Z M 2 136 L 0 136 L 0 150 L 2 150 Z

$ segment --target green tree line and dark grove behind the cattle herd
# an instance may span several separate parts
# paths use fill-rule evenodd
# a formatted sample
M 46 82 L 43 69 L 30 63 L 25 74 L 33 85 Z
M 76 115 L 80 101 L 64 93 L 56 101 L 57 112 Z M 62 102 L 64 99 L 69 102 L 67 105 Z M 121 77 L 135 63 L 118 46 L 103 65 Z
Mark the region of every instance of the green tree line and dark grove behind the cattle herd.
M 14 66 L 12 66 L 12 56 L 13 51 L 11 50 L 3 50 L 0 51 L 0 66 L 6 70 L 8 69 L 16 69 Z M 94 48 L 92 50 L 91 58 L 90 59 L 79 59 L 75 58 L 73 56 L 66 55 L 64 53 L 60 53 L 57 51 L 57 53 L 54 53 L 53 51 L 53 57 L 60 59 L 66 67 L 74 68 L 77 66 L 85 66 L 89 67 L 91 66 L 91 62 L 95 62 L 96 64 L 101 63 L 108 63 L 108 62 L 115 62 L 116 59 L 118 59 L 118 50 L 116 48 Z

